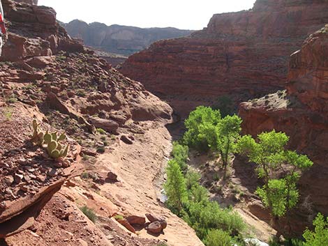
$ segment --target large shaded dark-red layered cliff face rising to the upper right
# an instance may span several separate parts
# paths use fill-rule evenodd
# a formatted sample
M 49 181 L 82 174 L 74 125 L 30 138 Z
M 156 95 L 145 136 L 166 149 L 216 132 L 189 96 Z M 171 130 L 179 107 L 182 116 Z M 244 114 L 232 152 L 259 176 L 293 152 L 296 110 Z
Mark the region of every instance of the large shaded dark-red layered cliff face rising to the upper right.
M 288 56 L 328 22 L 327 1 L 256 1 L 214 15 L 190 38 L 163 40 L 130 56 L 121 72 L 186 116 L 220 95 L 237 101 L 283 88 Z

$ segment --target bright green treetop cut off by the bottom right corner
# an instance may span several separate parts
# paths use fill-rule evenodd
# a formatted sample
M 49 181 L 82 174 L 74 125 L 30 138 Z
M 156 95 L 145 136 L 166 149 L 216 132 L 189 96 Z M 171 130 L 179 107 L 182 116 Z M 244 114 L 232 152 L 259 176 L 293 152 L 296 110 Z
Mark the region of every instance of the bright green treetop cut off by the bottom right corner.
M 322 214 L 318 214 L 313 221 L 314 231 L 306 229 L 303 237 L 306 240 L 304 246 L 324 246 L 328 242 L 328 217 L 325 219 Z

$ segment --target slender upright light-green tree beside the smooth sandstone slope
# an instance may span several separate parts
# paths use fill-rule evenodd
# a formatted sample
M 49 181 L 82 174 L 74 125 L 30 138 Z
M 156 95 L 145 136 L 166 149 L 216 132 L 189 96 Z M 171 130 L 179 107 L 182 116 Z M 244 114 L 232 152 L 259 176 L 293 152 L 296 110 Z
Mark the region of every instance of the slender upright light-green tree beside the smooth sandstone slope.
M 179 164 L 175 160 L 167 162 L 167 181 L 164 190 L 167 196 L 167 205 L 172 210 L 181 213 L 184 202 L 188 199 L 186 190 L 186 180 L 181 172 Z

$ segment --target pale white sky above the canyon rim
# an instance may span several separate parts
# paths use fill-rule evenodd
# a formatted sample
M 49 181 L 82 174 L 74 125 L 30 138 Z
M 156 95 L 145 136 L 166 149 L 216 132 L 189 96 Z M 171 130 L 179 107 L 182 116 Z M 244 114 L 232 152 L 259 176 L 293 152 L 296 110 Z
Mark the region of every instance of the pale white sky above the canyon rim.
M 248 10 L 255 0 L 39 0 L 57 11 L 57 20 L 139 27 L 202 29 L 215 13 Z

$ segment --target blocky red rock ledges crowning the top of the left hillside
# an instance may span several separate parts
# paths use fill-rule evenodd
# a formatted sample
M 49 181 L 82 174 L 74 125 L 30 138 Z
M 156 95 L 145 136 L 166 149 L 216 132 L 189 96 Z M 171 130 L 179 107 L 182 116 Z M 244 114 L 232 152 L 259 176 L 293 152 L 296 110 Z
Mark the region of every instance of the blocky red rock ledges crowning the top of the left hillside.
M 32 6 L 27 1 L 3 0 L 2 4 L 8 27 L 2 61 L 51 56 L 61 50 L 84 51 L 84 47 L 57 24 L 56 12 L 52 8 Z

